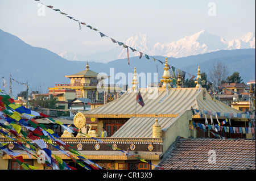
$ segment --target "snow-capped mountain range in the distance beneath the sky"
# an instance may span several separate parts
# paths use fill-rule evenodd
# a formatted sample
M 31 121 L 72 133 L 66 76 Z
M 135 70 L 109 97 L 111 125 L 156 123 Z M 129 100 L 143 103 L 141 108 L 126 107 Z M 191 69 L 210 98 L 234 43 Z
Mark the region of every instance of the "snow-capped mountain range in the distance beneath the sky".
M 255 32 L 248 32 L 240 39 L 228 41 L 223 37 L 202 30 L 191 36 L 185 36 L 183 39 L 167 44 L 156 42 L 143 33 L 134 33 L 122 42 L 148 55 L 181 58 L 218 50 L 255 48 Z M 68 51 L 60 53 L 59 56 L 71 61 L 96 61 L 106 63 L 115 59 L 126 58 L 127 50 L 117 45 L 117 47 L 107 52 L 97 52 L 89 56 L 82 56 L 81 54 Z M 139 56 L 139 52 L 131 52 L 129 56 Z

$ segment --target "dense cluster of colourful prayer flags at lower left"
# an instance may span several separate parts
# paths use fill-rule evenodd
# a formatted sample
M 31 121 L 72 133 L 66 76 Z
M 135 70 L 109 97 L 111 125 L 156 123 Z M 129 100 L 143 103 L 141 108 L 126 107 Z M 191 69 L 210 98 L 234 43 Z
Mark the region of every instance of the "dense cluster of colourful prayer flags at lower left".
M 26 154 L 29 158 L 32 158 L 32 156 L 38 159 L 45 158 L 44 163 L 42 162 L 42 164 L 46 164 L 47 166 L 52 167 L 52 169 L 75 169 L 68 166 L 59 157 L 55 157 L 54 154 L 52 154 L 52 151 L 47 149 L 47 142 L 71 159 L 73 159 L 73 155 L 68 154 L 67 151 L 60 149 L 60 146 L 64 146 L 64 148 L 69 152 L 79 156 L 79 160 L 73 159 L 73 161 L 76 161 L 76 163 L 85 169 L 102 169 L 101 167 L 97 167 L 97 165 L 92 161 L 88 162 L 87 159 L 82 154 L 80 154 L 79 151 L 75 150 L 72 145 L 66 144 L 64 141 L 59 140 L 59 136 L 57 136 L 57 134 L 55 134 L 51 129 L 46 129 L 43 124 L 39 124 L 34 119 L 36 115 L 35 112 L 28 110 L 26 107 L 18 106 L 18 104 L 13 102 L 9 95 L 0 95 L 0 101 L 0 134 L 12 141 L 15 146 L 18 146 L 22 150 L 26 151 Z M 28 119 L 27 117 L 24 117 L 24 114 L 28 115 L 28 113 L 33 113 L 34 115 L 31 115 L 31 117 Z M 37 116 L 39 115 L 47 117 L 47 119 L 51 120 L 53 123 L 61 125 L 69 132 L 77 131 L 77 129 L 66 127 L 60 121 L 55 121 L 49 118 L 47 115 L 38 113 Z M 21 127 L 27 128 L 28 134 L 24 132 Z M 28 138 L 30 138 L 32 141 L 28 141 Z M 57 145 L 53 144 L 53 141 L 55 141 Z M 6 146 L 6 144 L 0 143 L 0 149 L 3 151 L 3 153 L 10 155 L 10 157 L 14 159 L 14 161 L 18 162 L 19 165 L 24 167 L 24 169 L 37 169 L 35 166 L 27 165 L 27 163 L 24 163 L 23 158 L 20 155 L 21 153 L 16 153 Z M 41 151 L 41 154 L 38 154 L 38 150 Z M 85 164 L 82 164 L 80 161 L 85 162 Z

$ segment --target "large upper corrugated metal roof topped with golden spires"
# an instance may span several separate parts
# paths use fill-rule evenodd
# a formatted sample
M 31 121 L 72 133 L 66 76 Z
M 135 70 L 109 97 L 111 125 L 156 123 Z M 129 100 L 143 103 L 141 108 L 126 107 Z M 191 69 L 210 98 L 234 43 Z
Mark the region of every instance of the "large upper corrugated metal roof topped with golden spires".
M 166 89 L 159 88 L 156 96 L 152 96 L 151 90 L 140 89 L 145 103 L 143 107 L 136 102 L 137 92 L 126 91 L 121 98 L 84 114 L 134 114 L 135 110 L 137 114 L 179 114 L 181 111 L 191 110 L 191 107 L 196 110 L 241 113 L 218 100 L 213 100 L 206 89 L 197 92 L 197 88 L 169 88 L 169 95 L 161 103 L 160 100 L 167 94 Z

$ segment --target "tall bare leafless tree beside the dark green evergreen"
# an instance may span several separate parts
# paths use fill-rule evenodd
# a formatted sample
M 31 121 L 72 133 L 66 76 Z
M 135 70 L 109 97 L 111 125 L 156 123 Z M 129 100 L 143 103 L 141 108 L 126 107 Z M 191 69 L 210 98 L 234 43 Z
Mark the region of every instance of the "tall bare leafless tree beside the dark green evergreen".
M 221 62 L 217 62 L 217 64 L 212 66 L 212 69 L 209 70 L 209 78 L 213 83 L 214 91 L 221 91 L 221 89 L 219 89 L 221 81 L 224 81 L 228 77 L 228 74 L 228 67 Z

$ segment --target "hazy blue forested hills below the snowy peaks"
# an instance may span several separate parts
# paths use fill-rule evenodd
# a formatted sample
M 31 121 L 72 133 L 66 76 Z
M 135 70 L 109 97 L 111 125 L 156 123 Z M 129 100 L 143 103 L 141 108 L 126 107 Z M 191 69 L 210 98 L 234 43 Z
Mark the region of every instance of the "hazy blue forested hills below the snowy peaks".
M 165 56 L 155 56 L 158 60 L 165 61 Z M 201 71 L 206 74 L 212 68 L 215 62 L 221 61 L 228 66 L 230 75 L 234 71 L 240 72 L 243 82 L 255 79 L 255 49 L 233 49 L 233 50 L 217 50 L 210 53 L 198 54 L 193 56 L 174 58 L 168 57 L 168 64 L 177 69 L 186 71 L 189 74 L 197 74 L 197 66 L 200 65 Z M 154 61 L 152 58 L 147 60 L 144 56 L 139 59 L 138 56 L 130 57 L 130 65 L 127 64 L 127 58 L 110 61 L 106 64 L 102 62 L 89 61 L 90 70 L 97 73 L 106 73 L 114 79 L 110 84 L 120 83 L 118 73 L 126 75 L 125 81 L 129 87 L 131 85 L 134 67 L 137 73 L 151 73 L 151 77 L 147 77 L 147 84 L 154 81 L 153 73 L 158 72 L 158 81 L 162 78 L 164 64 Z M 68 61 L 60 57 L 58 54 L 51 52 L 45 48 L 32 47 L 18 37 L 0 29 L 0 76 L 6 80 L 7 87 L 3 87 L 0 83 L 0 89 L 9 92 L 9 78 L 15 81 L 26 83 L 28 81 L 28 89 L 48 91 L 47 87 L 53 87 L 56 83 L 70 83 L 64 75 L 71 75 L 85 70 L 86 62 L 84 61 Z M 111 72 L 114 68 L 114 73 Z M 130 74 L 129 74 L 130 73 Z M 130 77 L 129 77 L 129 76 Z M 20 91 L 26 90 L 26 86 L 12 81 L 13 96 Z M 142 79 L 139 78 L 139 82 Z

